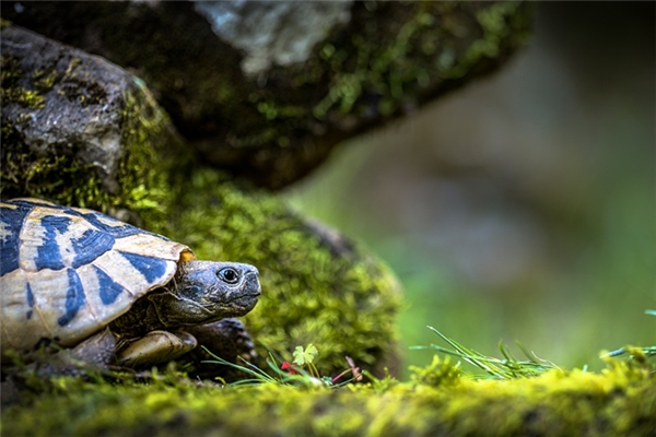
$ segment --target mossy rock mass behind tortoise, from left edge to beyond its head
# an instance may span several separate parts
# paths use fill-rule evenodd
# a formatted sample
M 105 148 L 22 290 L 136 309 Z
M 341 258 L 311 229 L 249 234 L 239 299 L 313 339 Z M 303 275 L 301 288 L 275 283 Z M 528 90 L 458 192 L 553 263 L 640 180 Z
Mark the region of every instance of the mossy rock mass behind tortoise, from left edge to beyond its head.
M 202 168 L 124 70 L 16 26 L 2 37 L 3 198 L 96 209 L 201 259 L 255 264 L 263 294 L 246 324 L 262 357 L 266 347 L 288 356 L 314 343 L 327 370 L 343 369 L 347 355 L 376 373 L 396 366 L 400 296 L 379 261 L 276 196 Z M 27 46 L 34 50 L 20 49 Z M 49 79 L 40 86 L 35 78 Z M 86 98 L 94 90 L 98 98 Z M 116 142 L 113 170 L 93 158 L 95 137 L 85 134 L 98 119 Z

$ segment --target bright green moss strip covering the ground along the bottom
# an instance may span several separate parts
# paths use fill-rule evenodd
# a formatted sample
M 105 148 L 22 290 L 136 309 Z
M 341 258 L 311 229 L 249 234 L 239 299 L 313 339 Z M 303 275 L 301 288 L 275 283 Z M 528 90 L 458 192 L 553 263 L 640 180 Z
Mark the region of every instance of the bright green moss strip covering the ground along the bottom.
M 442 365 L 440 374 L 457 371 Z M 432 373 L 433 370 L 426 370 Z M 423 377 L 422 377 L 423 378 Z M 648 436 L 656 429 L 653 366 L 613 363 L 601 374 L 550 370 L 514 380 L 376 380 L 221 388 L 186 379 L 149 385 L 58 378 L 4 408 L 12 436 Z

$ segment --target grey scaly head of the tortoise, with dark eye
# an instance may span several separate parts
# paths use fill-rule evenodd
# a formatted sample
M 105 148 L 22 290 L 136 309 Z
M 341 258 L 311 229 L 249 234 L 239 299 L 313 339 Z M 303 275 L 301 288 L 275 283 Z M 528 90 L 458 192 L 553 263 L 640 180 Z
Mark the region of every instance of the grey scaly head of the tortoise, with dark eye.
M 180 262 L 163 293 L 153 293 L 160 320 L 167 327 L 210 323 L 244 316 L 260 295 L 258 271 L 238 262 Z

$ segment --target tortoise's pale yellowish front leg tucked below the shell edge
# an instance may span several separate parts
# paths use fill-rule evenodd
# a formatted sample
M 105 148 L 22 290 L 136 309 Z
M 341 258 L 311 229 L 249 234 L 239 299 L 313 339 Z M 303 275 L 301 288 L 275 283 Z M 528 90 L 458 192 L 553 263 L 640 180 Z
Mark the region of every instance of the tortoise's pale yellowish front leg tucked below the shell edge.
M 151 331 L 120 345 L 116 356 L 119 365 L 148 367 L 176 359 L 196 345 L 196 339 L 187 332 Z

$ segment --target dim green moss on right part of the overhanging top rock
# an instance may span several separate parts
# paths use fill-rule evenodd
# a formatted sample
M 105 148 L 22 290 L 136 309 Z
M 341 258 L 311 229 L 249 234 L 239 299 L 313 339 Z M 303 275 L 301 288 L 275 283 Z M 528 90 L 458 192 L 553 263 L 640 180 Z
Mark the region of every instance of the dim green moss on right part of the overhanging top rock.
M 330 110 L 342 116 L 353 110 L 361 114 L 365 109 L 361 102 L 364 92 L 375 92 L 378 113 L 391 116 L 408 98 L 421 96 L 420 88 L 434 86 L 444 79 L 461 78 L 483 58 L 494 59 L 508 46 L 525 45 L 530 35 L 530 14 L 520 4 L 472 7 L 472 15 L 481 28 L 477 38 L 462 34 L 465 28 L 469 33 L 473 28 L 466 24 L 470 15 L 462 13 L 467 7 L 455 2 L 418 4 L 402 26 L 395 29 L 394 39 L 383 46 L 376 37 L 379 31 L 373 25 L 365 27 L 364 35 L 352 42 L 358 54 L 354 66 L 347 56 L 351 50 L 336 51 L 332 45 L 327 45 L 316 59 L 329 62 L 333 80 L 326 96 L 313 108 L 314 116 L 324 119 Z M 456 45 L 454 35 L 467 42 L 467 50 Z M 456 54 L 461 55 L 456 57 Z M 436 69 L 426 70 L 429 66 Z

